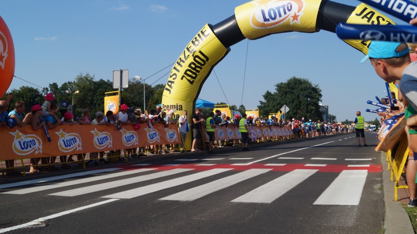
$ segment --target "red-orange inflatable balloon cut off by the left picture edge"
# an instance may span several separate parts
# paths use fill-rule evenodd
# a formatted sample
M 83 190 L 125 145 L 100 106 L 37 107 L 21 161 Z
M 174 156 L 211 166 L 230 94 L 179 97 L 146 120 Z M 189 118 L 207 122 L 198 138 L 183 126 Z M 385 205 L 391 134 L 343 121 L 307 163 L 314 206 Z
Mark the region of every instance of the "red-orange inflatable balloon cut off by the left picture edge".
M 15 74 L 15 47 L 9 28 L 0 16 L 0 98 Z

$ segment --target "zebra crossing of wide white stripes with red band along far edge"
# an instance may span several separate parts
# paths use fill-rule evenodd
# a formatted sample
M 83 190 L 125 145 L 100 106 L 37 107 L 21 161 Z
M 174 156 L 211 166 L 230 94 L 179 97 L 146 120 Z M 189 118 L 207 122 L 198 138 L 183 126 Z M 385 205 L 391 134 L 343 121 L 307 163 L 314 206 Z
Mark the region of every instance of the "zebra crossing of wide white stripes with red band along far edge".
M 282 195 L 291 192 L 293 188 L 299 186 L 304 181 L 309 180 L 316 173 L 337 172 L 339 173 L 338 176 L 321 193 L 313 205 L 358 205 L 368 173 L 377 172 L 377 170 L 372 169 L 375 168 L 375 165 L 342 165 L 343 167 L 341 165 L 330 165 L 332 168 L 324 170 L 328 166 L 329 165 L 325 164 L 264 164 L 252 165 L 251 167 L 239 167 L 233 166 L 233 164 L 207 164 L 207 166 L 201 164 L 190 164 L 162 167 L 158 165 L 142 164 L 142 166 L 139 166 L 142 168 L 134 167 L 130 170 L 120 171 L 111 170 L 106 171 L 106 174 L 97 173 L 95 176 L 91 176 L 89 178 L 76 179 L 68 177 L 70 180 L 66 182 L 53 182 L 46 179 L 45 181 L 48 183 L 45 185 L 42 185 L 42 183 L 36 183 L 36 186 L 26 185 L 26 188 L 15 188 L 10 189 L 9 191 L 4 191 L 4 189 L 7 188 L 7 185 L 3 185 L 2 189 L 0 189 L 0 198 L 1 194 L 24 195 L 28 193 L 47 191 L 58 188 L 60 188 L 61 191 L 48 193 L 47 196 L 75 197 L 84 194 L 91 194 L 98 191 L 107 191 L 115 188 L 123 190 L 123 186 L 137 185 L 138 187 L 134 189 L 129 187 L 130 189 L 128 190 L 118 191 L 116 193 L 107 194 L 100 197 L 109 199 L 134 199 L 149 193 L 185 185 L 187 183 L 199 181 L 201 179 L 207 180 L 210 177 L 215 177 L 215 179 L 213 179 L 211 182 L 192 188 L 187 188 L 184 191 L 176 192 L 168 196 L 165 194 L 163 197 L 158 197 L 158 194 L 156 193 L 157 195 L 155 197 L 156 200 L 190 202 L 197 199 L 204 199 L 205 196 L 213 194 L 216 191 L 221 191 L 238 183 L 245 183 L 246 181 L 252 178 L 256 179 L 263 174 L 270 176 L 268 173 L 275 172 L 274 176 L 276 175 L 276 178 L 273 178 L 261 186 L 252 188 L 251 191 L 247 191 L 244 194 L 233 194 L 236 197 L 230 201 L 232 203 L 270 204 L 276 201 Z M 281 172 L 277 173 L 276 171 Z M 161 179 L 164 180 L 162 182 L 156 182 L 145 186 L 140 185 L 140 182 L 154 179 L 159 179 L 158 181 L 161 181 Z M 108 182 L 108 180 L 113 181 Z M 79 185 L 93 181 L 98 183 L 95 185 L 79 187 Z M 77 186 L 78 188 L 74 189 L 73 186 Z M 10 188 L 14 187 L 16 186 L 10 186 Z

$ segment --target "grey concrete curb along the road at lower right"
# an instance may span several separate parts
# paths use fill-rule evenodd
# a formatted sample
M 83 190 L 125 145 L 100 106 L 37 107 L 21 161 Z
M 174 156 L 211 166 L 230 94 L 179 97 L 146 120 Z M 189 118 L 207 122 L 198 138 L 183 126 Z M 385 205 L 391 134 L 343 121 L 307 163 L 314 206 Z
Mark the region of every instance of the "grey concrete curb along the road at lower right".
M 386 156 L 381 152 L 382 180 L 384 188 L 385 203 L 385 234 L 414 234 L 413 225 L 405 209 L 401 206 L 400 201 L 394 199 L 394 181 L 391 179 L 391 171 L 388 168 Z

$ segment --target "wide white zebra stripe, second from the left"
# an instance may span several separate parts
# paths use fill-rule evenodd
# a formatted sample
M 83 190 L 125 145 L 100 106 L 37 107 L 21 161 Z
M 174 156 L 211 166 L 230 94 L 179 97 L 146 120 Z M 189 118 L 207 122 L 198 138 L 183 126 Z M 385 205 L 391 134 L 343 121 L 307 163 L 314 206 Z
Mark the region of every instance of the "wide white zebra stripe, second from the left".
M 164 177 L 164 176 L 174 175 L 174 174 L 178 174 L 178 173 L 189 171 L 189 170 L 194 170 L 194 169 L 164 170 L 164 171 L 160 171 L 160 172 L 156 172 L 156 173 L 152 173 L 152 174 L 140 175 L 140 176 L 136 176 L 136 177 L 132 177 L 132 178 L 116 180 L 116 181 L 102 183 L 102 184 L 96 184 L 96 185 L 82 187 L 82 188 L 78 188 L 78 189 L 51 193 L 51 194 L 48 194 L 48 195 L 78 196 L 78 195 L 83 195 L 83 194 L 87 194 L 87 193 L 91 193 L 91 192 L 103 191 L 103 190 L 112 189 L 112 188 L 116 188 L 116 187 L 120 187 L 120 186 L 124 186 L 124 185 L 139 183 L 139 182 L 146 181 L 146 180 L 161 178 L 161 177 Z

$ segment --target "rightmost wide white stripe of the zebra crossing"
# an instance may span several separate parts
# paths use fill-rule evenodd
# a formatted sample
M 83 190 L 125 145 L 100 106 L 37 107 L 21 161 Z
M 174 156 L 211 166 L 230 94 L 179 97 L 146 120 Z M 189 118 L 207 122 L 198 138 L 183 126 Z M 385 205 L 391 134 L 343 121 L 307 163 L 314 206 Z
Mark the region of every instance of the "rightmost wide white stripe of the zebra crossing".
M 314 205 L 359 204 L 368 170 L 344 170 L 317 198 Z

